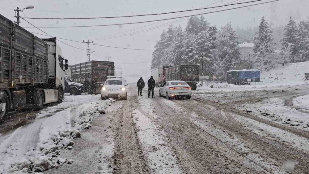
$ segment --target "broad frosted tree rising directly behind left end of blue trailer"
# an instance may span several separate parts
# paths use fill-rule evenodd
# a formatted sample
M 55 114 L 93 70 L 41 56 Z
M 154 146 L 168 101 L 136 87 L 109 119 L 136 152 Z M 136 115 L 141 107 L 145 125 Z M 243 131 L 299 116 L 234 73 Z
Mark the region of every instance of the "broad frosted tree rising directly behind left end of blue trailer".
M 217 55 L 216 62 L 220 63 L 223 72 L 231 70 L 240 62 L 239 36 L 235 33 L 231 23 L 221 27 L 216 39 Z M 224 77 L 224 76 L 222 76 Z

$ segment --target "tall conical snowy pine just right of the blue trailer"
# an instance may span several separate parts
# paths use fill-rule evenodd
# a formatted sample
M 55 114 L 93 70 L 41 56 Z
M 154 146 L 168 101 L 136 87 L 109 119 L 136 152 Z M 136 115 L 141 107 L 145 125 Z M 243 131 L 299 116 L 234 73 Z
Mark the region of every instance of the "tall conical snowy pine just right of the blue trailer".
M 274 53 L 273 47 L 273 29 L 269 26 L 268 21 L 263 16 L 259 30 L 254 37 L 254 58 L 256 60 L 256 67 L 271 66 L 272 54 Z

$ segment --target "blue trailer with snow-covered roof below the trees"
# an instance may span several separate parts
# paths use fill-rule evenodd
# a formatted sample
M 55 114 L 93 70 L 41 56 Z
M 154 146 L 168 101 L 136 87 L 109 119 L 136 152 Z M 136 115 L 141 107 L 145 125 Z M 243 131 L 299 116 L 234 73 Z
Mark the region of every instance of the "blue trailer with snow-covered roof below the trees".
M 227 83 L 231 84 L 248 84 L 250 82 L 260 82 L 260 70 L 243 69 L 231 70 L 226 72 Z

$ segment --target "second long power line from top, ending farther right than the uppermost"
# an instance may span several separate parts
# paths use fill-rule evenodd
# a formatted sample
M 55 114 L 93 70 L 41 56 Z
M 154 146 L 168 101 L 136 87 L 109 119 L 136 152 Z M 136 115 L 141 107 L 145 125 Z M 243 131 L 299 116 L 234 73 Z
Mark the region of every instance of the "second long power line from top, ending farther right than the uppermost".
M 262 3 L 257 3 L 257 4 L 252 4 L 252 5 L 242 6 L 242 7 L 235 7 L 235 8 L 229 8 L 229 9 L 224 9 L 224 10 L 218 10 L 218 11 L 206 12 L 206 13 L 201 13 L 201 14 L 198 14 L 198 15 L 205 15 L 205 14 L 217 13 L 217 12 L 221 12 L 221 11 L 235 10 L 235 9 L 239 9 L 239 8 L 251 7 L 251 6 L 256 6 L 256 5 L 266 4 L 266 3 L 270 3 L 270 2 L 276 2 L 276 1 L 281 1 L 281 0 L 273 0 L 273 1 L 269 1 L 269 2 L 262 2 Z M 60 27 L 39 27 L 39 28 L 103 27 L 103 26 L 114 26 L 114 25 L 141 24 L 141 23 L 148 23 L 148 22 L 156 22 L 156 21 L 163 21 L 163 20 L 171 20 L 171 19 L 186 18 L 186 17 L 192 17 L 192 16 L 197 16 L 197 15 L 188 15 L 188 16 L 173 17 L 173 18 L 166 18 L 166 19 L 159 19 L 159 20 L 148 20 L 148 21 L 131 22 L 131 23 L 120 23 L 120 24 L 81 25 L 81 26 L 60 26 Z M 24 28 L 33 28 L 33 27 L 24 27 Z

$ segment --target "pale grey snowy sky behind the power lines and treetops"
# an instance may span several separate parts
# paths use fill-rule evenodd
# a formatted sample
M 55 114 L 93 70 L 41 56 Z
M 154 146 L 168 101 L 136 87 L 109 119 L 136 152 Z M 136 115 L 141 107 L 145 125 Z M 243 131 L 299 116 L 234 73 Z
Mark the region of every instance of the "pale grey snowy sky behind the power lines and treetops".
M 24 10 L 22 16 L 27 17 L 99 17 L 99 16 L 118 16 L 118 15 L 138 15 L 157 12 L 169 12 L 187 10 L 193 8 L 201 8 L 207 5 L 218 6 L 227 3 L 245 2 L 249 0 L 0 0 L 0 14 L 15 20 L 13 11 L 14 8 L 23 8 L 27 5 L 35 6 L 34 9 Z M 269 1 L 269 0 L 266 0 Z M 216 3 L 215 3 L 216 2 Z M 243 5 L 239 5 L 243 6 Z M 233 6 L 235 7 L 235 6 Z M 236 6 L 237 7 L 237 6 Z M 231 8 L 225 7 L 225 8 Z M 225 9 L 225 8 L 221 8 Z M 240 28 L 253 27 L 259 24 L 260 18 L 265 15 L 273 25 L 283 25 L 288 20 L 289 16 L 292 16 L 296 21 L 307 19 L 309 16 L 309 1 L 308 0 L 281 0 L 279 2 L 263 4 L 253 7 L 246 7 L 242 9 L 236 9 L 225 12 L 218 12 L 213 14 L 204 15 L 205 19 L 210 22 L 211 25 L 217 25 L 221 27 L 227 22 L 231 22 L 233 27 L 239 26 Z M 176 15 L 193 15 L 207 10 L 199 10 L 187 12 L 186 14 L 177 13 L 170 15 L 156 15 L 147 17 L 133 17 L 133 18 L 118 18 L 118 19 L 91 19 L 91 20 L 34 20 L 28 19 L 29 22 L 37 27 L 44 26 L 71 26 L 71 25 L 99 25 L 99 24 L 115 24 L 115 23 L 127 23 L 137 22 L 144 20 L 164 19 L 169 17 L 175 17 Z M 124 37 L 117 37 L 112 39 L 99 39 L 94 43 L 139 48 L 139 49 L 153 49 L 156 40 L 159 39 L 159 35 L 163 29 L 167 29 L 168 23 L 174 20 L 162 21 L 157 24 L 143 23 L 143 24 L 130 24 L 122 26 L 105 26 L 105 27 L 88 27 L 88 28 L 43 28 L 43 30 L 51 36 L 68 38 L 77 41 L 97 39 L 99 37 L 105 37 L 116 33 L 126 32 L 139 28 L 137 30 L 130 31 L 128 33 L 149 29 L 159 25 L 167 24 L 159 28 L 155 28 L 146 32 L 136 33 Z M 150 25 L 152 24 L 152 25 Z M 20 24 L 22 27 L 30 27 L 25 21 L 22 20 Z M 148 26 L 150 25 L 150 26 Z M 174 25 L 181 25 L 183 28 L 186 25 L 186 20 L 181 20 L 174 23 Z M 146 26 L 146 27 L 145 27 Z M 143 27 L 143 28 L 141 28 Z M 28 31 L 36 33 L 42 33 L 36 28 L 26 28 Z M 119 36 L 127 33 L 121 33 Z M 37 35 L 44 38 L 44 36 Z M 63 40 L 62 40 L 63 41 Z M 64 41 L 70 45 L 78 48 L 86 49 L 87 45 L 82 43 L 76 43 L 72 41 Z M 69 60 L 69 64 L 76 64 L 87 61 L 86 51 L 78 50 L 62 43 L 59 43 L 62 47 L 64 57 Z M 135 63 L 151 61 L 152 51 L 141 50 L 123 50 L 115 48 L 107 48 L 101 46 L 91 46 L 91 51 L 95 51 L 91 55 L 91 60 L 107 60 L 106 56 L 111 56 L 110 61 L 115 63 L 115 72 L 118 73 L 118 67 L 122 68 L 123 76 L 128 81 L 137 81 L 139 77 L 150 76 L 150 63 L 141 64 L 119 64 L 119 63 Z

